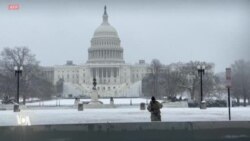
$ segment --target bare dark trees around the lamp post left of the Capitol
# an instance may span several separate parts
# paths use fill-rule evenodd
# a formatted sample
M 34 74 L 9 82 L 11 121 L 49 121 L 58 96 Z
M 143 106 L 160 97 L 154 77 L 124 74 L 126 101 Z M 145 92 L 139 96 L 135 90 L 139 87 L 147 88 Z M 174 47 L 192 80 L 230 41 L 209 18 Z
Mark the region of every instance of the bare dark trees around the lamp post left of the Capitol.
M 16 96 L 15 66 L 23 66 L 20 76 L 20 97 L 50 98 L 55 94 L 55 87 L 44 78 L 39 62 L 28 48 L 4 48 L 1 52 L 0 62 L 1 97 Z

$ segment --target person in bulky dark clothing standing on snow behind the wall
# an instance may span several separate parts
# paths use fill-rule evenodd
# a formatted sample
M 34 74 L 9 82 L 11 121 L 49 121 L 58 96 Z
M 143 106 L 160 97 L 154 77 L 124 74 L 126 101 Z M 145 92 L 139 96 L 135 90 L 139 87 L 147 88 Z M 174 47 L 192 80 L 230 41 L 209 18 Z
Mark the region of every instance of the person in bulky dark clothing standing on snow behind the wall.
M 151 113 L 151 121 L 161 121 L 161 111 L 162 104 L 155 100 L 152 96 L 151 101 L 147 107 L 148 111 Z

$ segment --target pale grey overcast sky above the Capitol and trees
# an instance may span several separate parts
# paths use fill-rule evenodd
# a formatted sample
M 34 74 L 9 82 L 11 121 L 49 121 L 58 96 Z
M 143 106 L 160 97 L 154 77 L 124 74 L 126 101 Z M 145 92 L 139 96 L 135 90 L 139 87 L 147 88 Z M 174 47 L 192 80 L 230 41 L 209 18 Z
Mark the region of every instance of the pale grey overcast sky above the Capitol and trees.
M 199 60 L 219 72 L 249 59 L 249 0 L 1 0 L 0 49 L 27 46 L 45 66 L 83 64 L 105 4 L 129 64 Z

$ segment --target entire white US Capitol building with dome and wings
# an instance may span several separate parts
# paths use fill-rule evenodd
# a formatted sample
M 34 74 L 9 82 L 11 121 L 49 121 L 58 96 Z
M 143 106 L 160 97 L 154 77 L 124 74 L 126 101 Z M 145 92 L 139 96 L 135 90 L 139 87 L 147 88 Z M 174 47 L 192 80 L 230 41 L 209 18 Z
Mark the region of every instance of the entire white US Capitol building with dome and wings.
M 116 29 L 109 24 L 106 6 L 101 25 L 95 30 L 88 49 L 88 60 L 84 65 L 52 67 L 53 83 L 63 80 L 63 96 L 90 96 L 93 78 L 97 80 L 100 97 L 138 97 L 141 80 L 150 72 L 149 65 L 139 60 L 135 65 L 126 64 L 124 49 Z

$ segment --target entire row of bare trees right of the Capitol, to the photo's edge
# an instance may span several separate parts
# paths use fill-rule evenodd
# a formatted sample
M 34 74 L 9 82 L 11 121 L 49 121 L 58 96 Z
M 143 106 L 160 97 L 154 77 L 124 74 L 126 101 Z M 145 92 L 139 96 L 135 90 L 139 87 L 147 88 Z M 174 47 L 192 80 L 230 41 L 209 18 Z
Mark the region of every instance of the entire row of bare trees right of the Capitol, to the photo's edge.
M 200 75 L 197 66 L 204 65 L 203 96 L 205 98 L 225 99 L 226 80 L 225 72 L 214 73 L 215 65 L 208 62 L 190 61 L 188 63 L 161 64 L 153 59 L 150 65 L 152 73 L 142 80 L 142 94 L 146 97 L 156 96 L 176 97 L 184 92 L 190 95 L 190 100 L 200 102 Z M 235 61 L 232 66 L 232 94 L 240 103 L 243 99 L 244 106 L 250 101 L 250 62 Z

